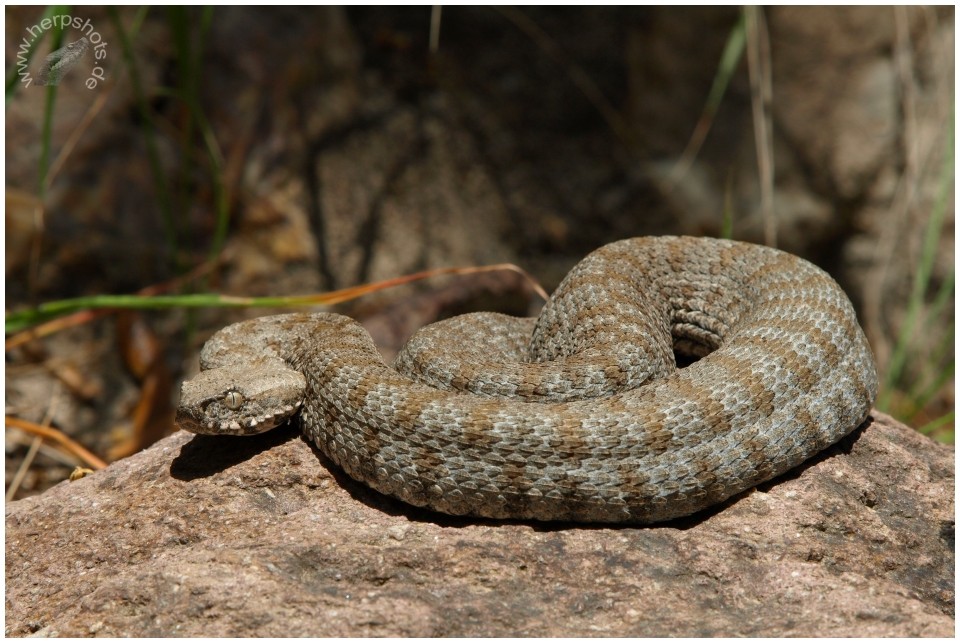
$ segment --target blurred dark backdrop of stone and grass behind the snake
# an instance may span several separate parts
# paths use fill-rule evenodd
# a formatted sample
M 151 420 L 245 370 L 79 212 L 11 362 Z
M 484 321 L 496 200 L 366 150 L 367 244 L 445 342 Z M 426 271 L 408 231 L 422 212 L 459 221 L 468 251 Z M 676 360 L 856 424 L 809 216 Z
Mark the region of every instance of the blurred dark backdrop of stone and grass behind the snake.
M 550 290 L 616 239 L 725 236 L 829 271 L 876 353 L 877 407 L 953 441 L 952 6 L 5 14 L 8 315 L 498 262 Z M 59 84 L 38 85 L 81 38 Z M 486 273 L 339 310 L 389 356 L 436 318 L 537 303 Z M 8 333 L 6 413 L 128 455 L 172 430 L 202 342 L 267 312 Z M 8 498 L 84 464 L 62 442 L 8 428 Z

